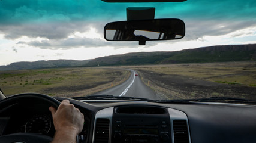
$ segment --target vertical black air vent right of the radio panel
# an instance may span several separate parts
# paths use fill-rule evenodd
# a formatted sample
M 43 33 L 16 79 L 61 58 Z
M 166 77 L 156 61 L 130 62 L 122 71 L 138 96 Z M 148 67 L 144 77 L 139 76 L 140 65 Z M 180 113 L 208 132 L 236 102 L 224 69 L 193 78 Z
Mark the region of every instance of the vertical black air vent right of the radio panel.
M 174 143 L 188 143 L 188 126 L 186 120 L 173 120 Z

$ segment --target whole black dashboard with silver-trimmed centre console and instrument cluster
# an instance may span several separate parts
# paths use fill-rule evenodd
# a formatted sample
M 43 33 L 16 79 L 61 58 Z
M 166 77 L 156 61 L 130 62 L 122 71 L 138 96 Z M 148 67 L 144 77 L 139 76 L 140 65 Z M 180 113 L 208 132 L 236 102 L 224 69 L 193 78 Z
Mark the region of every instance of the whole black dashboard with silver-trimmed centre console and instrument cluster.
M 62 101 L 67 98 L 55 97 Z M 79 142 L 255 142 L 256 107 L 68 99 L 85 115 Z M 53 137 L 49 104 L 23 102 L 0 111 L 0 133 Z

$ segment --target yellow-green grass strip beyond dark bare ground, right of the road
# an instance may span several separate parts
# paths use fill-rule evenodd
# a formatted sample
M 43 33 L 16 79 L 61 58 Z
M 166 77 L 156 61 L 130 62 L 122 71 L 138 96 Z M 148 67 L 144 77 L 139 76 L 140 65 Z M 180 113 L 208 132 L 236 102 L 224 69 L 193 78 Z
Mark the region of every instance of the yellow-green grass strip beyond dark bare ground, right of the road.
M 137 66 L 135 69 L 188 76 L 211 82 L 256 86 L 256 62 L 166 64 Z

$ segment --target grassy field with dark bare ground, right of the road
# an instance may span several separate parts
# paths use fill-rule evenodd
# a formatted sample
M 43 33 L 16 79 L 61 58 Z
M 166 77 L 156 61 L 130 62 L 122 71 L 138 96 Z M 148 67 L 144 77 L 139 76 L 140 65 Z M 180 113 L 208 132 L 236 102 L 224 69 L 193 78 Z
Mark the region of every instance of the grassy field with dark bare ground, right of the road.
M 130 66 L 164 98 L 227 96 L 256 100 L 256 62 Z

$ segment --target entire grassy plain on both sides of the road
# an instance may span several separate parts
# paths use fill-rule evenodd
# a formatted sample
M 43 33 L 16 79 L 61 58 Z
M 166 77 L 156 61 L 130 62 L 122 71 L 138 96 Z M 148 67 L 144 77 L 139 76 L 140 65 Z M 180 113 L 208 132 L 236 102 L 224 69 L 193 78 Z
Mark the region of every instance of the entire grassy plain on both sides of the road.
M 256 62 L 125 66 L 163 99 L 227 96 L 256 100 Z M 130 76 L 117 67 L 80 67 L 0 71 L 6 95 L 39 92 L 52 96 L 91 95 L 124 82 Z

